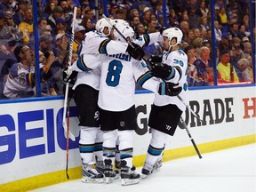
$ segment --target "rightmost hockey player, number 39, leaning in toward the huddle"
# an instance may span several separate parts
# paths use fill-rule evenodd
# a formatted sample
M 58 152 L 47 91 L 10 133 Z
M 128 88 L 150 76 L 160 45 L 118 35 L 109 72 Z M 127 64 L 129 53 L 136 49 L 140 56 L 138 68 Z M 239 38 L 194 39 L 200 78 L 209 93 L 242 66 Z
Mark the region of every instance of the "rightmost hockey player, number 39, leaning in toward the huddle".
M 182 39 L 180 28 L 167 28 L 163 31 L 164 52 L 162 63 L 154 65 L 154 76 L 164 79 L 166 82 L 179 84 L 182 87 L 180 98 L 187 100 L 187 67 L 188 56 L 180 50 Z M 154 104 L 149 115 L 148 125 L 151 127 L 151 140 L 145 164 L 141 170 L 142 178 L 155 172 L 162 165 L 162 155 L 168 135 L 173 136 L 179 123 L 185 105 L 178 97 L 167 97 L 156 94 Z

